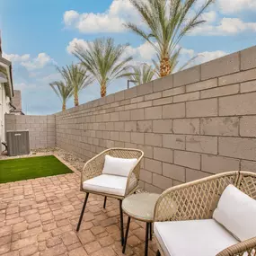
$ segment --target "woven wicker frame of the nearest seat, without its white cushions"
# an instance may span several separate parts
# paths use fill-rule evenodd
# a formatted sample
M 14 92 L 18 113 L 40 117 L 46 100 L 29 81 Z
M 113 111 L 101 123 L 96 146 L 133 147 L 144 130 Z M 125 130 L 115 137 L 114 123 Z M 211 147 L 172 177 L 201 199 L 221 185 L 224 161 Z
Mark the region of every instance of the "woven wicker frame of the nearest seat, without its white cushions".
M 154 224 L 160 223 L 161 225 L 161 222 L 165 222 L 164 225 L 166 225 L 167 222 L 171 224 L 180 222 L 180 224 L 184 223 L 186 225 L 191 223 L 190 220 L 207 221 L 211 219 L 223 191 L 230 184 L 249 195 L 252 199 L 256 199 L 256 173 L 224 172 L 163 191 L 154 208 Z M 185 220 L 189 222 L 182 222 Z M 169 232 L 172 233 L 172 230 L 169 230 Z M 186 230 L 186 233 L 188 232 Z M 197 232 L 196 225 L 194 226 L 194 232 Z M 210 232 L 210 230 L 207 230 L 206 234 Z M 157 235 L 156 240 L 158 245 L 157 255 L 171 255 L 170 252 L 167 253 L 166 249 L 163 248 L 163 241 L 161 242 Z M 186 247 L 186 241 L 183 240 L 182 242 L 184 245 L 181 245 L 181 247 Z M 202 244 L 199 244 L 199 246 L 202 246 Z M 181 252 L 180 255 L 189 254 L 182 254 Z M 192 252 L 190 252 L 190 255 L 194 256 Z M 210 255 L 210 253 L 207 255 Z M 255 256 L 256 237 L 241 243 L 236 242 L 234 245 L 228 246 L 222 252 L 216 252 L 214 255 Z

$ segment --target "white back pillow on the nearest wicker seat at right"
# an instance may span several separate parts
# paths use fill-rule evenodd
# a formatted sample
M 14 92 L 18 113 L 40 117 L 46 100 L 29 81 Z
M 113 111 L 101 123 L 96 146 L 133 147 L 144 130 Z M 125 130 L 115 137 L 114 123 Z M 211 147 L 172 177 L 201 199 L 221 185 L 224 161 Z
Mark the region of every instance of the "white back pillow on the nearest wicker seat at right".
M 256 200 L 233 185 L 224 190 L 213 218 L 240 241 L 256 236 Z

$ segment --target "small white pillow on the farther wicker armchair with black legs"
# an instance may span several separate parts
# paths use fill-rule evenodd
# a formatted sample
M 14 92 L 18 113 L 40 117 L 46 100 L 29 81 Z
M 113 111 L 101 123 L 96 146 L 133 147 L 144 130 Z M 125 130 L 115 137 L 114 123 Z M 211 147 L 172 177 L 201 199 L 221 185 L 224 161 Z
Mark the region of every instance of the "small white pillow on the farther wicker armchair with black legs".
M 128 177 L 128 173 L 136 165 L 137 158 L 119 158 L 105 155 L 103 174 L 111 174 Z

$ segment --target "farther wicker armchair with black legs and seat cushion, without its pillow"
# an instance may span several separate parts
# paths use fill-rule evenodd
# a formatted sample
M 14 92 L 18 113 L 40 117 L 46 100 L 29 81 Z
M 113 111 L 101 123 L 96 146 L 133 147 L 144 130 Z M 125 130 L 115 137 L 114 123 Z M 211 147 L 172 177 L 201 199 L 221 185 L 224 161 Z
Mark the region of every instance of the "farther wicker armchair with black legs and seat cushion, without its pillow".
M 134 159 L 136 164 L 128 172 L 128 177 L 117 175 L 106 175 L 103 172 L 105 156 L 116 158 Z M 124 242 L 123 233 L 123 214 L 121 203 L 128 195 L 134 193 L 138 188 L 140 163 L 144 153 L 138 149 L 131 148 L 110 148 L 97 154 L 84 165 L 84 170 L 81 174 L 81 187 L 80 190 L 86 193 L 84 199 L 84 206 L 81 211 L 79 222 L 76 228 L 78 232 L 84 216 L 84 209 L 86 207 L 87 199 L 90 193 L 102 195 L 105 197 L 104 207 L 106 205 L 107 197 L 119 199 L 120 211 L 120 233 L 121 243 Z

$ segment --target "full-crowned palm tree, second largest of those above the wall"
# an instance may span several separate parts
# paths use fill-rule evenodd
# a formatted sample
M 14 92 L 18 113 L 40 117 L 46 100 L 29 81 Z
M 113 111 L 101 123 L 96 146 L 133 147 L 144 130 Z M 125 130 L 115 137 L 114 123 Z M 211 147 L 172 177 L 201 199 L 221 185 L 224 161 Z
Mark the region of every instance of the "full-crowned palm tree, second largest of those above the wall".
M 104 97 L 114 79 L 130 75 L 128 64 L 132 57 L 124 57 L 128 44 L 116 46 L 113 39 L 103 38 L 93 40 L 87 46 L 85 49 L 76 45 L 74 55 L 100 84 Z

